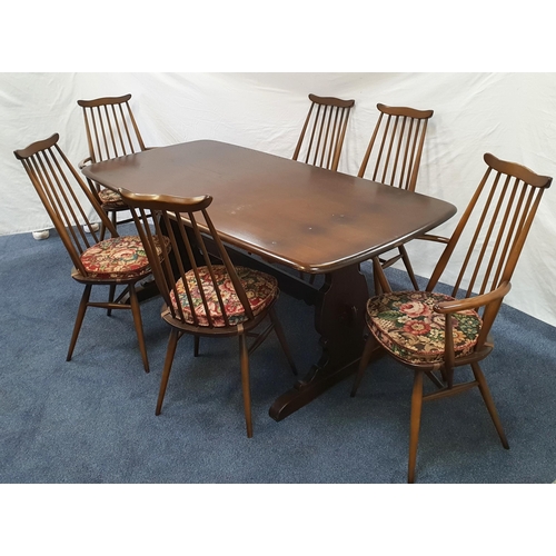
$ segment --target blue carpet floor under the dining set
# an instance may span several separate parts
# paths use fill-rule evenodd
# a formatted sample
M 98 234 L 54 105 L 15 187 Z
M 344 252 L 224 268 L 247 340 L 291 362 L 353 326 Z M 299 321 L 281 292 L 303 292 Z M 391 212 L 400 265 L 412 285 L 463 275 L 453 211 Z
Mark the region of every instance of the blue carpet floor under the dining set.
M 366 267 L 364 268 L 368 270 Z M 404 275 L 390 274 L 406 287 Z M 369 285 L 370 275 L 369 275 Z M 294 383 L 276 338 L 251 358 L 255 436 L 245 435 L 236 339 L 183 338 L 155 416 L 168 327 L 142 305 L 151 373 L 131 315 L 89 309 L 66 353 L 81 286 L 56 236 L 0 237 L 0 483 L 391 484 L 406 480 L 413 377 L 376 363 L 280 423 L 272 401 Z M 103 292 L 102 292 L 103 294 Z M 318 358 L 312 308 L 281 295 L 278 315 L 305 374 Z M 484 370 L 510 445 L 503 449 L 478 391 L 425 406 L 421 484 L 548 484 L 556 479 L 555 329 L 507 306 Z

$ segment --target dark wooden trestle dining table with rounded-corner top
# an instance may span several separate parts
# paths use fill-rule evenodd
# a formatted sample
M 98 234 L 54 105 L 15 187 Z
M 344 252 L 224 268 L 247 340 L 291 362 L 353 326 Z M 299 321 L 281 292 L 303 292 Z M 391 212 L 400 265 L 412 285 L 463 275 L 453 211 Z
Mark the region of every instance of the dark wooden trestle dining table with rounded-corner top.
M 232 260 L 277 276 L 280 289 L 314 306 L 308 326 L 320 356 L 274 401 L 275 420 L 354 373 L 369 298 L 360 264 L 456 214 L 441 199 L 217 140 L 157 147 L 82 172 L 116 191 L 210 195 L 211 219 Z M 311 275 L 322 278 L 311 284 Z

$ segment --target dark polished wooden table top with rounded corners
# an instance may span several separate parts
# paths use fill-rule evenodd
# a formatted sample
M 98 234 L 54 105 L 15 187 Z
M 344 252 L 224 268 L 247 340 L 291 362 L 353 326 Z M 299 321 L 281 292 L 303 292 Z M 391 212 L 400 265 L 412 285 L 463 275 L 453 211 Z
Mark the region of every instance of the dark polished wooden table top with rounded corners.
M 222 239 L 320 274 L 360 262 L 445 222 L 449 202 L 219 141 L 159 147 L 82 172 L 136 193 L 210 195 Z

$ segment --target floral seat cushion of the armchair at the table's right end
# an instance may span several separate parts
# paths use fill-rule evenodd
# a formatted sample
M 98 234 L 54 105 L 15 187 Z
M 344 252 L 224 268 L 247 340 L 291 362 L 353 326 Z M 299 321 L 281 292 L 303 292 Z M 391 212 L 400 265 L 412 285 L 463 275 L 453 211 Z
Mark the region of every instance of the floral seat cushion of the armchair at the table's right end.
M 396 291 L 368 300 L 367 325 L 390 353 L 413 365 L 444 360 L 445 315 L 434 306 L 454 300 L 444 294 Z M 477 311 L 453 315 L 454 350 L 457 357 L 470 354 L 481 326 Z

